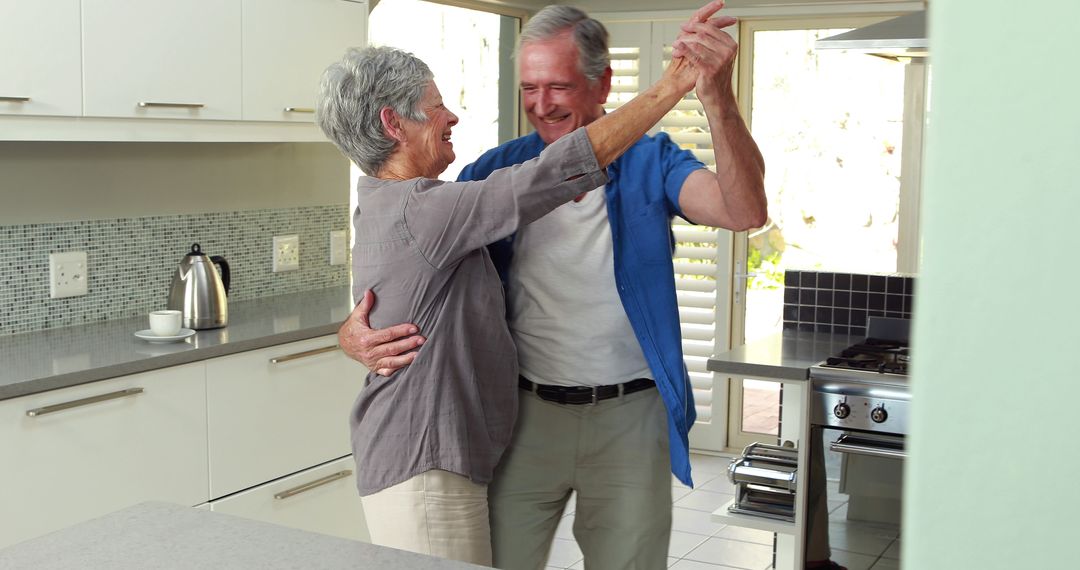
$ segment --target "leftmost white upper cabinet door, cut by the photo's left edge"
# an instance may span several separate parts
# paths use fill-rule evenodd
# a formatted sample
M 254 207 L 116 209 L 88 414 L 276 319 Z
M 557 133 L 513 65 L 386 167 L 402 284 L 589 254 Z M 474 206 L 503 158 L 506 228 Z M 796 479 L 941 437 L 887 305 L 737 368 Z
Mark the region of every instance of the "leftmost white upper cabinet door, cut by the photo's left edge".
M 0 114 L 82 112 L 79 0 L 0 0 Z

